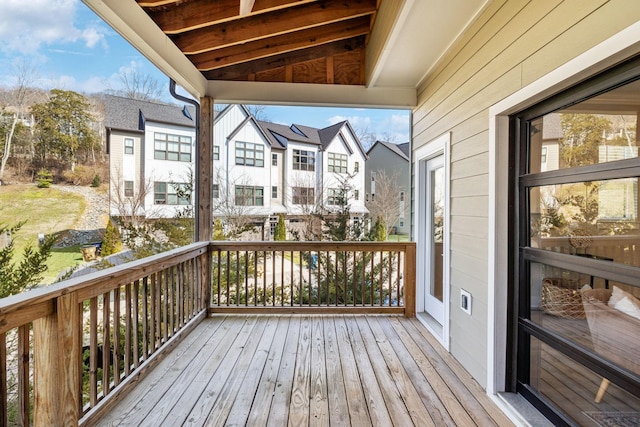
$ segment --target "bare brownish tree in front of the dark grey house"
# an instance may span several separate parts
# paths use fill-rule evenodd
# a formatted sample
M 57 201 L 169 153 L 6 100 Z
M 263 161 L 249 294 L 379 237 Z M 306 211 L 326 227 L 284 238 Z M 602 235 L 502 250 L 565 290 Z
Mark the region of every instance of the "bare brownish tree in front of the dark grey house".
M 400 219 L 401 203 L 400 192 L 403 190 L 397 172 L 387 174 L 384 170 L 374 171 L 376 191 L 366 202 L 371 218 L 375 221 L 378 217 L 384 220 L 387 226 L 387 235 L 392 226 Z

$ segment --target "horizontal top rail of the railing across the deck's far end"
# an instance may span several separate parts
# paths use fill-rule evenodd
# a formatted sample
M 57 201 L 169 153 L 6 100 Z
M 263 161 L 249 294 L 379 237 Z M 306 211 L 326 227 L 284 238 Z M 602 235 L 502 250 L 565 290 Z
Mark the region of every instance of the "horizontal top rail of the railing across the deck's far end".
M 397 251 L 415 247 L 415 242 L 242 242 L 211 241 L 213 250 L 239 251 Z

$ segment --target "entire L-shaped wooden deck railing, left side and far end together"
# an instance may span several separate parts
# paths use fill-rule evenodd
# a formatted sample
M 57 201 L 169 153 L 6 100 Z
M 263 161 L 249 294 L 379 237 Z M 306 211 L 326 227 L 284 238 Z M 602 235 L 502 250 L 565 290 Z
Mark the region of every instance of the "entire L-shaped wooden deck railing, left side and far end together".
M 90 423 L 216 312 L 414 316 L 415 244 L 202 242 L 0 300 L 0 427 Z

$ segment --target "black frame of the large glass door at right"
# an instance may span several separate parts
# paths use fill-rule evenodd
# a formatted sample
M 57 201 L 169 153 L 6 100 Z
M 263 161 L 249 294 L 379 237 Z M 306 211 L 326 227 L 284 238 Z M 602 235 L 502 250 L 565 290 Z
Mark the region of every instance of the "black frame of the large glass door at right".
M 640 58 L 627 61 L 527 110 L 510 116 L 509 205 L 511 214 L 509 217 L 512 218 L 512 222 L 510 221 L 509 224 L 508 264 L 510 267 L 509 300 L 511 301 L 512 309 L 509 312 L 510 333 L 507 338 L 506 384 L 508 391 L 516 391 L 523 395 L 556 425 L 571 425 L 571 421 L 529 384 L 530 337 L 534 337 L 540 342 L 551 346 L 564 356 L 581 363 L 603 377 L 615 379 L 619 384 L 625 384 L 628 389 L 633 389 L 636 393 L 637 390 L 640 390 L 640 383 L 621 374 L 615 365 L 598 357 L 597 354 L 585 351 L 571 340 L 531 321 L 531 301 L 528 284 L 529 265 L 532 262 L 539 262 L 578 272 L 597 271 L 600 277 L 612 280 L 621 277 L 620 274 L 627 268 L 624 265 L 616 265 L 615 263 L 601 265 L 602 263 L 598 263 L 597 260 L 588 258 L 563 258 L 555 253 L 529 247 L 530 200 L 528 191 L 530 188 L 543 184 L 614 179 L 617 175 L 628 175 L 631 168 L 636 169 L 635 173 L 640 174 L 640 167 L 637 166 L 637 161 L 620 161 L 616 164 L 603 163 L 583 166 L 574 170 L 554 171 L 552 173 L 530 173 L 528 165 L 530 123 L 533 119 L 542 117 L 545 114 L 638 79 L 640 79 Z M 633 165 L 630 165 L 630 163 L 633 163 Z M 625 283 L 633 283 L 637 280 L 637 278 L 627 278 Z

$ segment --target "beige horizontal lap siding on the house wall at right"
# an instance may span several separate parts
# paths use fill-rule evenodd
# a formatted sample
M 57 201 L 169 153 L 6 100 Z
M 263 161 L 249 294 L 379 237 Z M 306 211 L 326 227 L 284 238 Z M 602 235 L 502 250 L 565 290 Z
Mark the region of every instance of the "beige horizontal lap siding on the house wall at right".
M 451 134 L 450 350 L 483 386 L 489 107 L 639 18 L 633 0 L 492 1 L 419 86 L 414 150 Z M 472 316 L 457 306 L 460 288 L 473 295 Z

